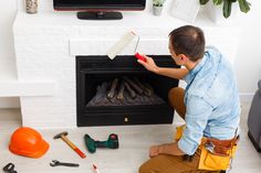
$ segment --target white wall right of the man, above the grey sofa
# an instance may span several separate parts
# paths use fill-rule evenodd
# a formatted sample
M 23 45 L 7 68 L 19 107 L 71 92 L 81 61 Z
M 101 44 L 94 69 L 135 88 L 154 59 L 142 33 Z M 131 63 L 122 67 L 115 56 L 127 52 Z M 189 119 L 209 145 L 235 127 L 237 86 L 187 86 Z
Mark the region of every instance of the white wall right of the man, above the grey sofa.
M 242 19 L 244 25 L 236 58 L 236 75 L 242 95 L 254 93 L 261 79 L 261 1 L 251 1 L 250 12 Z

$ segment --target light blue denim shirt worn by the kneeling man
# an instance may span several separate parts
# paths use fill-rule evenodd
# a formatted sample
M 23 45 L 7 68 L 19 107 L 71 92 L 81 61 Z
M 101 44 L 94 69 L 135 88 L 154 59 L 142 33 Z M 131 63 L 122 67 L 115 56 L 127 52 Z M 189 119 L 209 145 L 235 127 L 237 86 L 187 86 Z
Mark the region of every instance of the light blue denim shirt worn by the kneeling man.
M 191 155 L 201 138 L 231 139 L 240 120 L 240 101 L 230 63 L 215 47 L 185 76 L 186 129 L 178 147 Z

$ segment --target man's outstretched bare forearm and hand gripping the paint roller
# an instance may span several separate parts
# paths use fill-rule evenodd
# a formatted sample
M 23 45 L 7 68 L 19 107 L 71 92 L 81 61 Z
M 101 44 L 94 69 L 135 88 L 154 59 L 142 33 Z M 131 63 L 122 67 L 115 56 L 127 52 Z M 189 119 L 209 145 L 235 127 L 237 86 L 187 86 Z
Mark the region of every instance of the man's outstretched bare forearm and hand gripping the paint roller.
M 182 79 L 187 74 L 187 68 L 167 68 L 167 67 L 158 67 L 152 57 L 143 55 L 146 58 L 146 63 L 138 60 L 138 63 L 142 64 L 148 71 L 156 73 L 158 75 Z

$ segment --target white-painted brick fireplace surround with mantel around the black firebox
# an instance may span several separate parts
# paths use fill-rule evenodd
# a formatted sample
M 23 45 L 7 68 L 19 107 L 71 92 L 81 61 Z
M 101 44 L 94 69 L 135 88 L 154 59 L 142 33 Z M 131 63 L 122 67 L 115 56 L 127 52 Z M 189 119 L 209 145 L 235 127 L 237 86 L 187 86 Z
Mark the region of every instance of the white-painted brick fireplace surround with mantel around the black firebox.
M 27 14 L 20 10 L 13 25 L 18 79 L 39 82 L 30 88 L 32 94 L 20 97 L 23 126 L 76 127 L 75 55 L 105 55 L 128 31 L 140 36 L 138 52 L 166 55 L 168 33 L 184 24 L 188 23 L 168 14 L 154 17 L 149 10 L 125 12 L 121 21 L 80 21 L 72 12 Z M 238 28 L 216 26 L 203 17 L 195 24 L 203 29 L 207 44 L 216 45 L 233 63 Z M 133 55 L 135 43 L 122 55 Z

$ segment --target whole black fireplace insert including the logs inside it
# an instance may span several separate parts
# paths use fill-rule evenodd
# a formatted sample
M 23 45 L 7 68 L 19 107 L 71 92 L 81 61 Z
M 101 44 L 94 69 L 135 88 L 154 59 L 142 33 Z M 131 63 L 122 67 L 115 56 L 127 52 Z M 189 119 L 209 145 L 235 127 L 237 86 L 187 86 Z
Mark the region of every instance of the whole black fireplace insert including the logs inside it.
M 179 67 L 169 55 L 152 57 L 159 66 Z M 135 90 L 129 83 L 140 84 L 143 90 Z M 130 55 L 113 61 L 107 56 L 76 56 L 77 126 L 173 123 L 168 91 L 177 86 L 178 79 L 148 72 Z M 125 89 L 117 97 L 121 87 Z

